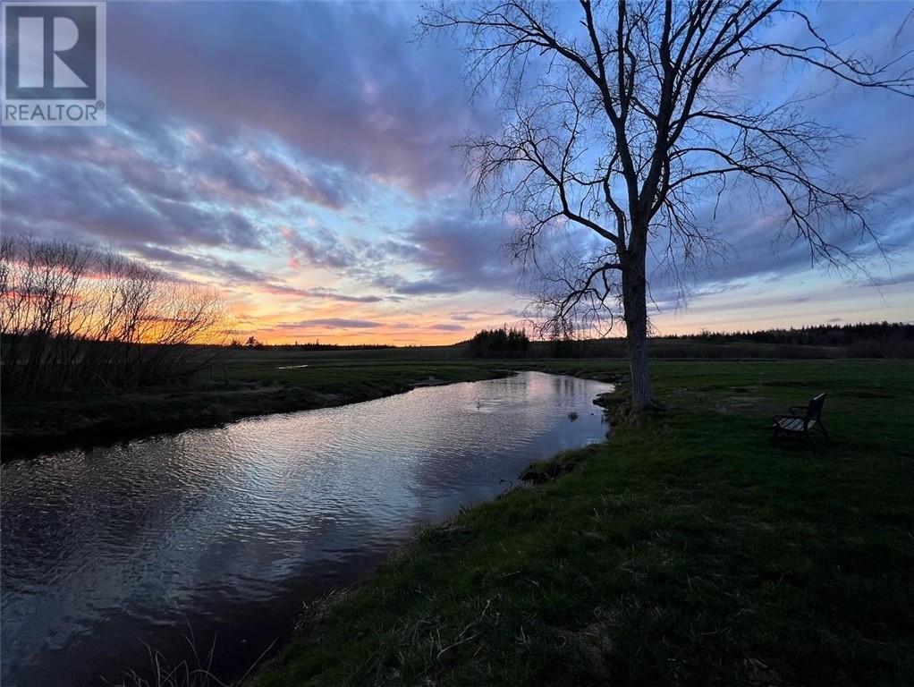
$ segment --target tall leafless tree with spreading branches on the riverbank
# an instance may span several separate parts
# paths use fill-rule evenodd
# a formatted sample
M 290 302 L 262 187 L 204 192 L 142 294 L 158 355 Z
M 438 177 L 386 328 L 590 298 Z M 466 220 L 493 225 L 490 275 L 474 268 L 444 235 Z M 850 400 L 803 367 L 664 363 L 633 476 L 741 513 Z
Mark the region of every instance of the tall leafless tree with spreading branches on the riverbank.
M 569 8 L 576 16 L 571 16 Z M 799 30 L 779 38 L 777 21 Z M 844 55 L 802 6 L 781 0 L 576 5 L 508 0 L 426 8 L 420 32 L 451 31 L 468 54 L 473 87 L 500 89 L 504 123 L 464 143 L 479 199 L 518 220 L 513 255 L 537 262 L 554 231 L 590 231 L 596 250 L 547 270 L 541 303 L 584 327 L 622 306 L 632 401 L 654 402 L 648 369 L 647 258 L 676 274 L 719 249 L 696 199 L 747 184 L 781 210 L 780 233 L 813 260 L 853 258 L 826 226 L 866 238 L 866 190 L 834 179 L 828 153 L 845 139 L 804 114 L 802 99 L 740 99 L 732 79 L 755 57 L 821 70 L 863 89 L 910 96 L 899 60 Z M 785 34 L 786 35 L 786 34 Z M 709 224 L 709 223 L 708 223 Z

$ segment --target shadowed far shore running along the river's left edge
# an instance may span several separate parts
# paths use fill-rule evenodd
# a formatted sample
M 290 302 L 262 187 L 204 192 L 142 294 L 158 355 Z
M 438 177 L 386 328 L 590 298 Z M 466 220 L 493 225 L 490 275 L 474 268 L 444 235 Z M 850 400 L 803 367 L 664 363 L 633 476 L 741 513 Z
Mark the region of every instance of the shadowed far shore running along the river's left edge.
M 53 398 L 5 400 L 2 460 L 70 448 L 112 445 L 151 435 L 215 427 L 237 420 L 373 401 L 421 386 L 505 377 L 512 370 L 472 365 L 437 370 L 428 364 L 366 370 L 311 367 L 308 380 L 229 379 Z M 415 368 L 415 369 L 412 369 Z M 305 368 L 278 368 L 304 372 Z M 430 370 L 434 376 L 430 376 Z M 266 370 L 263 370 L 266 371 Z M 301 376 L 301 375 L 298 375 Z M 345 377 L 341 380 L 340 377 Z M 331 391 L 334 383 L 336 391 Z

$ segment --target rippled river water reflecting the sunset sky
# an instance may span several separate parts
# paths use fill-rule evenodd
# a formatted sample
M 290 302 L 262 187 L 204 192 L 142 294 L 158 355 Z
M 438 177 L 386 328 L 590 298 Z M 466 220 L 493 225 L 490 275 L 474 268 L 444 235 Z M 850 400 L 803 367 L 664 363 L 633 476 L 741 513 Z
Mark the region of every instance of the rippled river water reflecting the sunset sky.
M 117 678 L 186 622 L 243 670 L 418 524 L 599 440 L 610 388 L 525 372 L 7 464 L 2 682 Z

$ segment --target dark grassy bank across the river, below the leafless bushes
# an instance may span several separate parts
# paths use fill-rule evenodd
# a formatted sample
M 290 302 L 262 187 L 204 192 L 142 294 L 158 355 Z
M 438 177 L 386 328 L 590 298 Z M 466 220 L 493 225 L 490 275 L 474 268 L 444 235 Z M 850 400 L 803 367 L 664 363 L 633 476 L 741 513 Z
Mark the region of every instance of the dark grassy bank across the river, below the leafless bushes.
M 506 373 L 504 365 L 453 360 L 232 352 L 206 377 L 191 383 L 4 398 L 0 455 L 7 460 L 74 445 L 103 445 L 251 415 L 370 401 L 407 392 L 416 384 L 476 381 Z

